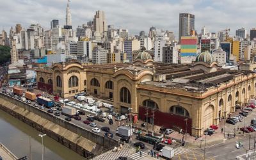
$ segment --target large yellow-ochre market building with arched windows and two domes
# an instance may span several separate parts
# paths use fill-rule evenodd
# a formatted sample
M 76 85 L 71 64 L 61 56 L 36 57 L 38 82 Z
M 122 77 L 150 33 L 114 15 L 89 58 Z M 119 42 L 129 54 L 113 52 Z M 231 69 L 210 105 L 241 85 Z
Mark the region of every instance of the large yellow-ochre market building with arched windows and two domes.
M 86 65 L 54 63 L 36 70 L 38 88 L 70 97 L 88 92 L 113 100 L 121 114 L 201 136 L 256 95 L 256 75 L 248 70 L 222 69 L 212 54 L 202 52 L 191 65 L 155 63 L 143 51 L 133 63 Z

